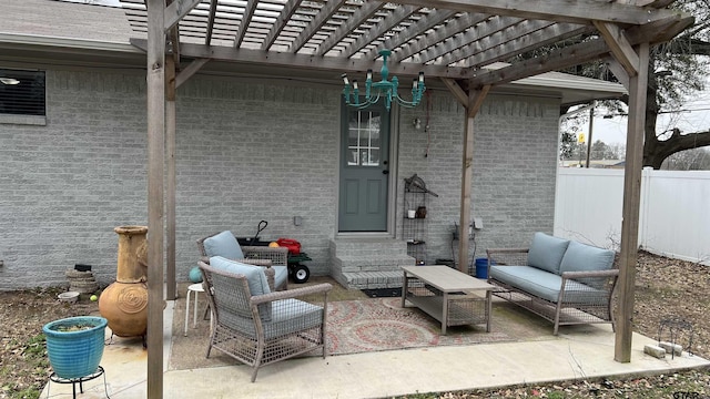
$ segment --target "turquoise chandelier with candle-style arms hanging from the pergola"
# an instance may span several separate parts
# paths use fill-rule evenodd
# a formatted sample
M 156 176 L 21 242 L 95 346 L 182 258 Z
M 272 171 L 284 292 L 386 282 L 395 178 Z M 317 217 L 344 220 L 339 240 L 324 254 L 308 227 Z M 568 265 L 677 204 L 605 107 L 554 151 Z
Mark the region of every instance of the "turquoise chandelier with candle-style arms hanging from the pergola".
M 397 93 L 397 86 L 399 85 L 399 80 L 397 79 L 397 76 L 393 76 L 392 81 L 387 80 L 387 78 L 389 76 L 387 59 L 390 54 L 392 51 L 389 51 L 388 49 L 379 50 L 379 55 L 382 55 L 383 58 L 382 69 L 379 70 L 382 80 L 379 82 L 373 82 L 373 70 L 367 70 L 364 98 L 361 98 L 357 81 L 354 80 L 351 84 L 351 82 L 347 80 L 347 75 L 345 73 L 342 74 L 343 83 L 345 83 L 345 88 L 343 88 L 343 96 L 345 96 L 345 103 L 347 105 L 362 110 L 369 105 L 376 104 L 381 98 L 385 99 L 385 108 L 387 109 L 387 111 L 389 111 L 393 102 L 396 102 L 404 108 L 414 108 L 419 104 L 419 102 L 422 101 L 422 94 L 424 94 L 424 91 L 426 90 L 426 86 L 424 85 L 424 72 L 419 72 L 419 78 L 415 78 L 412 82 L 412 101 L 404 100 Z

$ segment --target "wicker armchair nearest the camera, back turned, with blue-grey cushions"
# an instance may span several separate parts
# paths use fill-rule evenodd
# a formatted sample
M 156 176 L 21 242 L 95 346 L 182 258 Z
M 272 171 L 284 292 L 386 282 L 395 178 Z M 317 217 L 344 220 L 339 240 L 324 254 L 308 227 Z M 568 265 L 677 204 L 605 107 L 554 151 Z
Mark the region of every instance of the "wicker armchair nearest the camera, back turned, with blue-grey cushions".
M 329 284 L 252 295 L 252 276 L 232 274 L 200 262 L 203 286 L 213 311 L 214 328 L 206 356 L 215 348 L 253 367 L 260 367 L 316 349 L 326 350 L 326 314 Z M 316 304 L 295 299 L 323 294 Z

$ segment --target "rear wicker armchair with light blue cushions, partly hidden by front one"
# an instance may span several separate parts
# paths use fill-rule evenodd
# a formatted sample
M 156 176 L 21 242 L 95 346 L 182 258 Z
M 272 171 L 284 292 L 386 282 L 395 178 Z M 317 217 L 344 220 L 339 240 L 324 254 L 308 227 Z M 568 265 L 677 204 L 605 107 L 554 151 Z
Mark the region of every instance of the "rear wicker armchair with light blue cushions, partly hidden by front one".
M 272 287 L 276 287 L 277 290 L 288 289 L 288 248 L 285 247 L 265 247 L 265 246 L 240 246 L 234 238 L 232 233 L 229 233 L 232 238 L 234 238 L 233 245 L 237 248 L 241 248 L 243 253 L 243 258 L 235 258 L 229 256 L 227 254 L 222 253 L 211 253 L 209 254 L 205 249 L 205 239 L 216 237 L 220 234 L 225 234 L 229 232 L 215 233 L 211 234 L 206 237 L 197 239 L 197 248 L 200 249 L 201 258 L 200 260 L 210 264 L 211 256 L 224 256 L 226 258 L 231 258 L 233 260 L 240 260 L 251 265 L 258 265 L 264 267 L 273 268 L 273 273 L 266 274 L 266 277 L 270 278 L 270 285 Z

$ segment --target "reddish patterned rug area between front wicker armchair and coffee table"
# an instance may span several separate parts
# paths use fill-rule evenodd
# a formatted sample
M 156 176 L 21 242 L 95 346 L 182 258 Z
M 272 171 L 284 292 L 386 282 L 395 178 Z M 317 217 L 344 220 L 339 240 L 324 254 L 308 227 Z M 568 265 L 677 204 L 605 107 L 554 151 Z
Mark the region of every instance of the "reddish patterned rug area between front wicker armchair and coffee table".
M 513 340 L 485 326 L 448 327 L 415 307 L 402 308 L 402 298 L 328 303 L 328 352 L 332 355 L 427 346 L 473 345 Z

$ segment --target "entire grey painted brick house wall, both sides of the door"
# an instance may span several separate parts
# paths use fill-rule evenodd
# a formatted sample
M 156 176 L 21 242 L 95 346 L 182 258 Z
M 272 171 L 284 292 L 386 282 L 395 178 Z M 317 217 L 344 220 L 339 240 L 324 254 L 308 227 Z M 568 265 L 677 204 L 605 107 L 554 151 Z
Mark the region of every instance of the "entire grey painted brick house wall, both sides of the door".
M 0 290 L 65 285 L 75 263 L 91 264 L 101 284 L 114 279 L 113 228 L 148 223 L 144 79 L 48 71 L 47 125 L 0 124 Z M 427 204 L 430 262 L 450 258 L 464 126 L 448 94 L 432 98 L 428 136 L 410 124 L 425 108 L 402 112 L 397 177 L 398 193 L 418 173 L 439 194 Z M 485 224 L 477 255 L 551 232 L 557 110 L 555 99 L 519 96 L 489 96 L 481 109 L 471 192 Z M 195 239 L 222 229 L 253 236 L 262 219 L 261 238 L 297 238 L 312 273 L 327 274 L 339 90 L 199 76 L 179 89 L 178 115 L 178 278 L 196 263 Z

